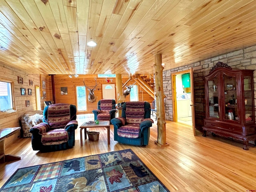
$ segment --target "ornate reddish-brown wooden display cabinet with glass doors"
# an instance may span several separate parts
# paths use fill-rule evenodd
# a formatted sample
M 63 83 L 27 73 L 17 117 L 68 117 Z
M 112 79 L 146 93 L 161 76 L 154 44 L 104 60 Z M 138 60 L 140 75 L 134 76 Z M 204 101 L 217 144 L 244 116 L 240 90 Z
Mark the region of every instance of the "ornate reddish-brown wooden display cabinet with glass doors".
M 230 66 L 218 62 L 205 77 L 206 118 L 204 134 L 233 138 L 256 144 L 254 116 L 254 70 L 232 70 Z

